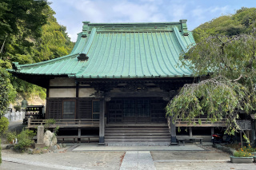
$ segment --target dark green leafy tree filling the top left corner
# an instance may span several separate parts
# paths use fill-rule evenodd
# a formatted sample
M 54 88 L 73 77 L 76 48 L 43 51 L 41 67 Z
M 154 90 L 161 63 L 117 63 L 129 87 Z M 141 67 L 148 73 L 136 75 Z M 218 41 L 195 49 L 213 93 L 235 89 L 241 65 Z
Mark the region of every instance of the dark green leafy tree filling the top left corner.
M 2 0 L 0 2 L 0 45 L 16 42 L 14 49 L 7 51 L 24 53 L 33 45 L 32 39 L 41 37 L 42 26 L 46 24 L 45 0 Z

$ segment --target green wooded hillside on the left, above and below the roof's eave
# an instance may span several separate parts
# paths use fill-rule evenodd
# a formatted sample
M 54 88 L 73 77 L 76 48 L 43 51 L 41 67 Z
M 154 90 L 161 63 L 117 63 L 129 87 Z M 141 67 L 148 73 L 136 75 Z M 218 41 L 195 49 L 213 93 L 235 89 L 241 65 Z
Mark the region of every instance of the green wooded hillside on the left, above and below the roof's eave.
M 0 70 L 8 82 L 1 93 L 8 93 L 8 101 L 15 97 L 46 97 L 46 89 L 31 85 L 6 73 L 12 62 L 30 64 L 62 57 L 70 53 L 74 43 L 66 27 L 58 24 L 45 0 L 2 0 L 0 2 Z M 5 98 L 6 98 L 5 97 Z M 3 97 L 2 97 L 3 98 Z

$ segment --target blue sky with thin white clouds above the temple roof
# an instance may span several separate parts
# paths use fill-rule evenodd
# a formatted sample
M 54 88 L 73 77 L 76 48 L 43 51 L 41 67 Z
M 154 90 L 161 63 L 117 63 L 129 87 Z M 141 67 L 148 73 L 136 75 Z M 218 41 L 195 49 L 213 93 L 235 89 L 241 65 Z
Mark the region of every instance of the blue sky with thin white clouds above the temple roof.
M 256 0 L 49 0 L 59 24 L 66 26 L 72 42 L 82 22 L 178 22 L 187 19 L 189 30 Z

